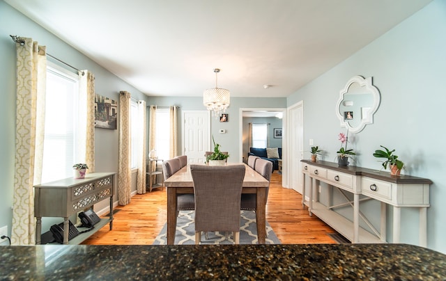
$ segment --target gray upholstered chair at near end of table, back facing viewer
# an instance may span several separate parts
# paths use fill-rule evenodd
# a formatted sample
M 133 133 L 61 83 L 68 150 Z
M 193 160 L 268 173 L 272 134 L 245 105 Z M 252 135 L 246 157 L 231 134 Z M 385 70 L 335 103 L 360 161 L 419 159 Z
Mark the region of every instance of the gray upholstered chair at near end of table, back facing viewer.
M 233 232 L 240 243 L 240 198 L 244 165 L 191 165 L 195 196 L 195 244 L 201 232 Z

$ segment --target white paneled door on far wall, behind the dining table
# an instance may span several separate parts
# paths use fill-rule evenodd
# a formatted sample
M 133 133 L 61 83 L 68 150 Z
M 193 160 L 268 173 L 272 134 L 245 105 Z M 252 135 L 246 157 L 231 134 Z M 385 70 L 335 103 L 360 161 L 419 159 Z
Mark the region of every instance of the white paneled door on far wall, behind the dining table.
M 204 163 L 210 147 L 209 111 L 183 111 L 183 155 L 187 163 Z

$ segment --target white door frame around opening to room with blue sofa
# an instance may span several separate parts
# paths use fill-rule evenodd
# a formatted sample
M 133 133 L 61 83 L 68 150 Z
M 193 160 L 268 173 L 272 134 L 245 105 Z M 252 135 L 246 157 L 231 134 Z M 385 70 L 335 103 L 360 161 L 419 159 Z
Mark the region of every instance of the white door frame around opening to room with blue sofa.
M 287 165 L 287 149 L 286 147 L 288 146 L 288 138 L 286 137 L 286 128 L 287 128 L 287 118 L 286 118 L 286 114 L 287 114 L 287 109 L 285 108 L 265 108 L 265 107 L 252 107 L 252 108 L 240 108 L 240 113 L 239 113 L 239 117 L 240 117 L 240 124 L 238 125 L 239 127 L 239 134 L 240 134 L 240 145 L 239 145 L 239 155 L 240 155 L 240 163 L 243 162 L 243 111 L 277 111 L 277 112 L 282 112 L 282 186 L 284 187 L 288 187 L 288 174 L 289 174 L 289 170 L 288 170 L 288 165 Z

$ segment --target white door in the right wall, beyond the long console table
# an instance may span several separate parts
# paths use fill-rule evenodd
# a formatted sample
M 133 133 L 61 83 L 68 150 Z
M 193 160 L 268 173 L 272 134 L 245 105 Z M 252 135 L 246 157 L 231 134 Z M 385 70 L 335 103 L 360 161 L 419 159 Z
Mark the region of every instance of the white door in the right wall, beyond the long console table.
M 300 160 L 303 159 L 303 136 L 304 136 L 304 122 L 303 122 L 303 104 L 298 102 L 288 109 L 289 116 L 289 155 L 288 161 L 290 165 L 289 170 L 289 184 L 291 188 L 302 194 L 302 172 L 300 170 Z

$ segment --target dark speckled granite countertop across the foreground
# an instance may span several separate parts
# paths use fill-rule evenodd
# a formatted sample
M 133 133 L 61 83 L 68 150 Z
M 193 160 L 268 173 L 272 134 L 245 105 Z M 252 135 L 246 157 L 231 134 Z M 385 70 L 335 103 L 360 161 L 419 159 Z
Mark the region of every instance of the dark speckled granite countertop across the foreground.
M 404 244 L 3 246 L 0 280 L 446 280 Z

